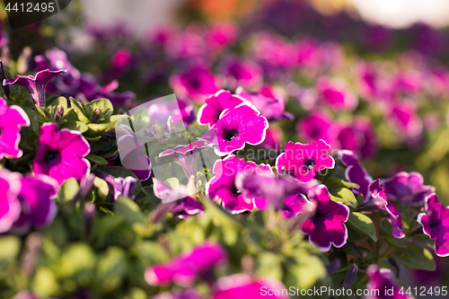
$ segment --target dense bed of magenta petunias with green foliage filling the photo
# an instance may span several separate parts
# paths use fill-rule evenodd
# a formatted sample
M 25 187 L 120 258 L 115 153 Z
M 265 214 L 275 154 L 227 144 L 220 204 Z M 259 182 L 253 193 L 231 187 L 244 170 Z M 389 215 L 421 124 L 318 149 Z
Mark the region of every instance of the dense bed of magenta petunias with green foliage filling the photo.
M 416 295 L 399 265 L 449 255 L 449 70 L 252 27 L 2 33 L 0 298 Z

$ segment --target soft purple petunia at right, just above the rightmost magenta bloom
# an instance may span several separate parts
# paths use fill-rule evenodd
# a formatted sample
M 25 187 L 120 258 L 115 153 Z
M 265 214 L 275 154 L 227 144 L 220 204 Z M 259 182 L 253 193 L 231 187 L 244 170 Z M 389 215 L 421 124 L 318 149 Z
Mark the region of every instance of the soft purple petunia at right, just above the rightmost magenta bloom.
M 433 192 L 435 187 L 424 185 L 424 179 L 418 172 L 401 171 L 390 179 L 382 180 L 388 198 L 420 206 Z

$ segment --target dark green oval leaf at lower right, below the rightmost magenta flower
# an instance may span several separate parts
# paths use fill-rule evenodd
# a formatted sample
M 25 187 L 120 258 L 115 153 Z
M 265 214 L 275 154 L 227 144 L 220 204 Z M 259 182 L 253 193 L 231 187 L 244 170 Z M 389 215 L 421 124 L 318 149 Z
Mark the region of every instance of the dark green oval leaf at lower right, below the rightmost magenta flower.
M 392 258 L 399 261 L 407 268 L 419 268 L 427 271 L 435 271 L 436 263 L 432 253 L 417 245 L 395 251 Z

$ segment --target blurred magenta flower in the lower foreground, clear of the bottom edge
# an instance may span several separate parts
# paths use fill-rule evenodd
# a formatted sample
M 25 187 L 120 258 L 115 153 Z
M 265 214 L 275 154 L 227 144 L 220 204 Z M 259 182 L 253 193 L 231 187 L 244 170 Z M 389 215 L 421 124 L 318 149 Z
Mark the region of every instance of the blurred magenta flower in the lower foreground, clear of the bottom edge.
M 191 286 L 198 276 L 207 274 L 226 260 L 226 251 L 219 244 L 204 242 L 167 263 L 147 268 L 145 281 L 152 286 L 163 286 L 172 282 L 179 286 Z

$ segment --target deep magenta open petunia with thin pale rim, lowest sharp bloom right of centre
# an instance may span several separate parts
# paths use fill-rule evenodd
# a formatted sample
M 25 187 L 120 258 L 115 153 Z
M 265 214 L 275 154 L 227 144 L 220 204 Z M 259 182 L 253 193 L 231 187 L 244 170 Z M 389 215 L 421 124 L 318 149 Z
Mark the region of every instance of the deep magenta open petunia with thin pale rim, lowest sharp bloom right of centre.
M 348 240 L 348 229 L 345 223 L 348 221 L 349 208 L 339 202 L 330 199 L 330 193 L 326 186 L 319 185 L 316 189 L 309 190 L 310 202 L 305 197 L 305 204 L 314 204 L 315 213 L 311 219 L 305 220 L 301 226 L 301 233 L 309 234 L 309 241 L 320 251 L 330 251 L 330 246 L 342 247 Z

